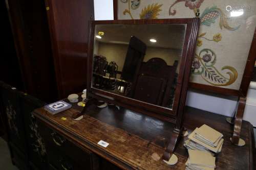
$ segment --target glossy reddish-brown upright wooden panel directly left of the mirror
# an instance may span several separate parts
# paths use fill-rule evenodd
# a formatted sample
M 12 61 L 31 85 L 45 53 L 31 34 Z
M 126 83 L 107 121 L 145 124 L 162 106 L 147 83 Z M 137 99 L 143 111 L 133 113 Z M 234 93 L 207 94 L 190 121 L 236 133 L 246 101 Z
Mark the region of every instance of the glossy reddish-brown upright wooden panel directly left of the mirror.
M 92 0 L 46 0 L 59 98 L 86 88 Z

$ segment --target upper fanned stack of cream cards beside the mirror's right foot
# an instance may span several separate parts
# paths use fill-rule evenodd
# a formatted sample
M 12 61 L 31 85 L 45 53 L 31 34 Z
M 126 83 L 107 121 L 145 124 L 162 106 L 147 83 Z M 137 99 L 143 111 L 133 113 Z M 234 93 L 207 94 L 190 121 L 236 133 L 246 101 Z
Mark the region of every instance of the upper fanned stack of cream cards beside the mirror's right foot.
M 184 147 L 191 150 L 219 153 L 223 145 L 223 135 L 207 125 L 196 128 L 185 141 Z

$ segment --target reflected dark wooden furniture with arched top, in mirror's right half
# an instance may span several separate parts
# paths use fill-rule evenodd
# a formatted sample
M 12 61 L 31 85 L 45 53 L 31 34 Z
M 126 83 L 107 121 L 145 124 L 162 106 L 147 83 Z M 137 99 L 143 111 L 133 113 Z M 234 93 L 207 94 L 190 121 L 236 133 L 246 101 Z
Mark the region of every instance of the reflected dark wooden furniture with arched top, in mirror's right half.
M 142 62 L 137 77 L 133 98 L 146 103 L 168 107 L 170 90 L 174 84 L 178 61 L 173 66 L 161 58 L 152 58 Z M 148 83 L 150 82 L 150 83 Z M 169 104 L 169 105 L 168 105 Z

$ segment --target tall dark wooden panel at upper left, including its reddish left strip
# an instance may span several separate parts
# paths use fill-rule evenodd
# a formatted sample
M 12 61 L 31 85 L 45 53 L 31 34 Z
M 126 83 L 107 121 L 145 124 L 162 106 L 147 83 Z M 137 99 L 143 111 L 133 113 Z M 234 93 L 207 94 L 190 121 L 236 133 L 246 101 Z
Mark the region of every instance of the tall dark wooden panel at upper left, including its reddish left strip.
M 6 2 L 24 89 L 41 100 L 55 101 L 57 88 L 44 1 Z

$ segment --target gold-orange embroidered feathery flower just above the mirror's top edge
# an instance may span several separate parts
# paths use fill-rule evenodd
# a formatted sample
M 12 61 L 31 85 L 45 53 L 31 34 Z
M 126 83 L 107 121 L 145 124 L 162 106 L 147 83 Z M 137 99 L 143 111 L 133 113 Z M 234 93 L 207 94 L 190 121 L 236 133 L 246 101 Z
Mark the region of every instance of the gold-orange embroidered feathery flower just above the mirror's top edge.
M 158 3 L 156 3 L 144 7 L 140 13 L 140 19 L 157 19 L 159 12 L 162 11 L 160 9 L 161 6 L 162 4 L 158 5 Z

